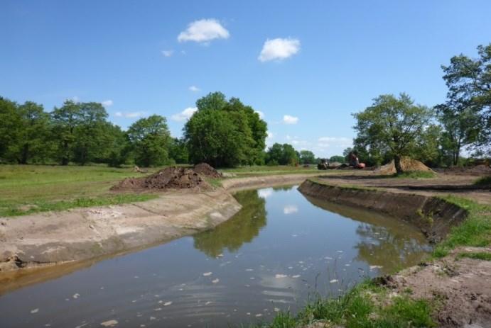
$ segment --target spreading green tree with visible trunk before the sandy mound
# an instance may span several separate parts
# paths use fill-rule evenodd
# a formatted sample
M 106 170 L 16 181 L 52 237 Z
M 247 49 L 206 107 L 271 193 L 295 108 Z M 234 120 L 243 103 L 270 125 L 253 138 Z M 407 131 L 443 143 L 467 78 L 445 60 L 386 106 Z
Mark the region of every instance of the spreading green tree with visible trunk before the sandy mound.
M 432 111 L 426 106 L 415 105 L 406 94 L 399 98 L 382 95 L 374 99 L 372 106 L 353 116 L 357 120 L 355 144 L 388 152 L 394 158 L 396 171 L 401 173 L 401 157 L 414 157 L 427 141 L 422 136 Z

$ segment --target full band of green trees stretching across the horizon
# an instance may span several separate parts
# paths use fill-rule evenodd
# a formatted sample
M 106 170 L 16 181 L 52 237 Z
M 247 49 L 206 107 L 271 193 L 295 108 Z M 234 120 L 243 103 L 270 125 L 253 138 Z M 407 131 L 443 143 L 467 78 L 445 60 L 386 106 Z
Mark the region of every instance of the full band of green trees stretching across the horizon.
M 443 66 L 447 100 L 434 108 L 415 104 L 406 94 L 381 95 L 355 113 L 354 151 L 369 166 L 403 156 L 430 166 L 460 163 L 468 149 L 489 156 L 491 149 L 491 45 L 477 47 L 479 57 L 458 55 Z M 100 103 L 65 101 L 47 113 L 32 101 L 18 104 L 0 97 L 1 163 L 106 163 L 159 166 L 206 162 L 215 167 L 314 164 L 313 152 L 292 145 L 266 148 L 267 125 L 239 98 L 220 92 L 198 99 L 183 137 L 171 137 L 166 118 L 141 118 L 124 131 L 107 120 Z M 328 122 L 326 122 L 327 124 Z M 400 169 L 400 167 L 399 167 Z M 398 170 L 399 171 L 399 170 Z

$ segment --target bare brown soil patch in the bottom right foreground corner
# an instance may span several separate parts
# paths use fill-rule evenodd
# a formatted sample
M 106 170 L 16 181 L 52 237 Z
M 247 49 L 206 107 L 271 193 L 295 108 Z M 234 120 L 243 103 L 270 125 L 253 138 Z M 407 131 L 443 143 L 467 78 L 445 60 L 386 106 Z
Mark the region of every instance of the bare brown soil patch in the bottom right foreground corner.
M 388 278 L 398 293 L 436 303 L 438 327 L 490 327 L 491 261 L 458 259 L 465 252 L 490 248 L 463 247 L 438 261 L 421 264 Z

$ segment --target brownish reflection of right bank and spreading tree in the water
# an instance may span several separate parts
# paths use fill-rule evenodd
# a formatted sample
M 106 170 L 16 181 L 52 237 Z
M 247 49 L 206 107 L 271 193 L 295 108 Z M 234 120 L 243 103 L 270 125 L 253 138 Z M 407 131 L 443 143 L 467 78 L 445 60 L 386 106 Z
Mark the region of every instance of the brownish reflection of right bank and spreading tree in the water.
M 394 217 L 306 198 L 319 208 L 359 221 L 356 234 L 360 238 L 354 246 L 358 251 L 355 259 L 367 262 L 381 273 L 394 273 L 416 265 L 424 254 L 431 251 L 421 232 Z

